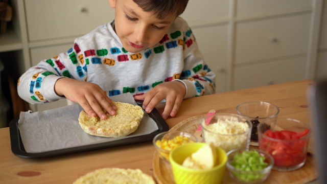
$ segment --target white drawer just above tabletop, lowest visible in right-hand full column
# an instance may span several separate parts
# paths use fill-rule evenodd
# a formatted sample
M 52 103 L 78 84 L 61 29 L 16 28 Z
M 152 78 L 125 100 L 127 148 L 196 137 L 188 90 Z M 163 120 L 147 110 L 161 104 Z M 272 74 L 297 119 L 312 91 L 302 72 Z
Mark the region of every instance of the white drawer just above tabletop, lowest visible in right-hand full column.
M 236 67 L 233 90 L 305 79 L 306 57 Z

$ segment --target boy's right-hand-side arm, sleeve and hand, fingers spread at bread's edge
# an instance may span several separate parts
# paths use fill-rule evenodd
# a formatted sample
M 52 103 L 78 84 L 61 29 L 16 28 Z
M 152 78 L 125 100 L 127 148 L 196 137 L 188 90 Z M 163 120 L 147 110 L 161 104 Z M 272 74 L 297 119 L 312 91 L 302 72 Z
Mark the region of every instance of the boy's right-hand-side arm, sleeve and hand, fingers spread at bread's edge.
M 183 99 L 215 93 L 216 75 L 205 64 L 190 28 L 184 31 L 183 37 L 184 67 L 180 78 L 160 83 L 146 94 L 134 97 L 136 100 L 144 100 L 143 108 L 147 113 L 161 100 L 166 99 L 166 106 L 161 114 L 164 119 L 175 117 Z

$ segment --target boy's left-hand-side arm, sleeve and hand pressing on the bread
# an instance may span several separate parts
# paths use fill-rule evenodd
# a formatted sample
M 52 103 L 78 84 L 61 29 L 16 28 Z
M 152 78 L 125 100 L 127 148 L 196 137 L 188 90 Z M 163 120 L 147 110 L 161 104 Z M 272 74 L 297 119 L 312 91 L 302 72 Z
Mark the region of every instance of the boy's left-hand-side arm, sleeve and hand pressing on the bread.
M 60 98 L 79 103 L 89 116 L 106 119 L 104 108 L 111 116 L 115 106 L 99 85 L 86 82 L 88 59 L 84 55 L 94 50 L 81 51 L 78 42 L 66 53 L 42 60 L 31 67 L 18 81 L 18 95 L 35 104 L 53 102 Z M 63 97 L 64 96 L 64 97 Z

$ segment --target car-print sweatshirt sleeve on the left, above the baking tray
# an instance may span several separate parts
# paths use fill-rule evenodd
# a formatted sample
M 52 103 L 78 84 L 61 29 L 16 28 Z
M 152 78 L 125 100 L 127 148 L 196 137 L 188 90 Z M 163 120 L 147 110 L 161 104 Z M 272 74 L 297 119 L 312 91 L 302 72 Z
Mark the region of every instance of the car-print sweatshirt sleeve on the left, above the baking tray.
M 83 52 L 75 41 L 74 47 L 50 59 L 44 59 L 20 76 L 18 95 L 31 103 L 47 103 L 61 98 L 55 93 L 55 83 L 62 77 L 86 79 L 86 64 Z

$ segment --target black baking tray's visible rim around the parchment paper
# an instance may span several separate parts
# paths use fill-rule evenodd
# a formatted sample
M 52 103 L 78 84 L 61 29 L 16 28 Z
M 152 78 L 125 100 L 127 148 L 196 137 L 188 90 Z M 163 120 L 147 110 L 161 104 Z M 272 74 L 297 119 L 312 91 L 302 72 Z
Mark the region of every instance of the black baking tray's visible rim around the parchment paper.
M 142 107 L 143 101 L 135 100 L 138 106 Z M 110 148 L 115 146 L 122 146 L 128 144 L 135 144 L 135 143 L 142 143 L 152 141 L 153 137 L 164 131 L 169 130 L 169 126 L 166 121 L 161 117 L 161 114 L 158 112 L 156 108 L 154 108 L 151 113 L 148 113 L 149 117 L 152 118 L 157 126 L 158 130 L 154 131 L 147 135 L 130 137 L 126 139 L 106 142 L 106 143 L 98 143 L 86 146 L 78 146 L 72 148 L 65 148 L 65 149 L 58 149 L 53 151 L 46 151 L 40 153 L 28 153 L 25 151 L 24 145 L 22 144 L 19 129 L 18 129 L 18 120 L 19 118 L 14 118 L 11 120 L 9 124 L 10 129 L 10 142 L 11 142 L 11 151 L 18 157 L 22 158 L 44 158 L 44 157 L 51 157 L 51 156 L 59 156 L 63 154 L 70 154 L 70 153 L 77 153 L 82 151 L 90 151 L 102 148 Z

